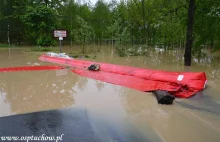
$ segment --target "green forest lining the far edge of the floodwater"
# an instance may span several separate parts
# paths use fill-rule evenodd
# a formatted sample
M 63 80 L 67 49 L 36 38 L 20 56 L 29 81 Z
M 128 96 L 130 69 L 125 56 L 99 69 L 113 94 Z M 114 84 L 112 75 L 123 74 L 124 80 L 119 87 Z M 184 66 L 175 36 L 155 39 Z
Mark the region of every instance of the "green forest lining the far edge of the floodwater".
M 0 43 L 185 47 L 189 0 L 0 0 Z M 220 1 L 195 0 L 193 53 L 220 50 Z

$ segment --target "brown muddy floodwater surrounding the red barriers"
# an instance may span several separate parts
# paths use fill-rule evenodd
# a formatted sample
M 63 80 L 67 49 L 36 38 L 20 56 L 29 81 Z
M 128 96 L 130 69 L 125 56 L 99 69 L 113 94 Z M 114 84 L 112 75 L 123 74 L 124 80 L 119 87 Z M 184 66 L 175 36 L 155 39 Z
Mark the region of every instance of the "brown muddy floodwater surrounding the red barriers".
M 75 49 L 64 49 L 69 50 Z M 38 60 L 42 53 L 22 51 L 12 49 L 9 55 L 7 49 L 1 49 L 0 67 L 52 64 Z M 89 60 L 169 71 L 205 71 L 208 85 L 196 96 L 176 99 L 166 106 L 158 105 L 151 93 L 81 77 L 69 69 L 4 72 L 0 73 L 0 117 L 77 106 L 115 124 L 129 121 L 152 141 L 220 141 L 220 55 L 194 58 L 192 67 L 186 68 L 182 50 L 119 57 L 112 47 L 105 46 L 96 59 Z

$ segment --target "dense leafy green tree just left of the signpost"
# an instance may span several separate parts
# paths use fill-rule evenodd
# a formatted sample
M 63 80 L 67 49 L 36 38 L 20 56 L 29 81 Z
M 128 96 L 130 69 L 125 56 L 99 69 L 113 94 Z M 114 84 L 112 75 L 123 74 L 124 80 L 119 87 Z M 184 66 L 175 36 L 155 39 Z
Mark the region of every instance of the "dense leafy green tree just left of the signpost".
M 40 46 L 53 45 L 54 41 L 48 33 L 55 29 L 57 18 L 52 8 L 44 5 L 27 6 L 21 19 L 28 27 L 29 36 L 37 39 L 35 43 Z

